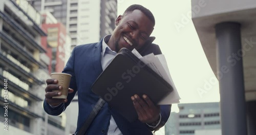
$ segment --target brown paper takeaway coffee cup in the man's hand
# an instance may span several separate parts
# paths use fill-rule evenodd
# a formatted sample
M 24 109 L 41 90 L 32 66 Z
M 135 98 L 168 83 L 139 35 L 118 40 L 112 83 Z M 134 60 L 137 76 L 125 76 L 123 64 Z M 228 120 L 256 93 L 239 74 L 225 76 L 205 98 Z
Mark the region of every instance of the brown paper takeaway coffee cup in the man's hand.
M 70 83 L 71 75 L 66 74 L 66 73 L 52 73 L 51 77 L 53 79 L 57 79 L 58 80 L 58 85 L 62 86 L 61 90 L 53 91 L 53 92 L 61 92 L 62 93 L 61 96 L 52 97 L 52 98 L 66 99 L 67 96 L 68 96 L 69 83 Z

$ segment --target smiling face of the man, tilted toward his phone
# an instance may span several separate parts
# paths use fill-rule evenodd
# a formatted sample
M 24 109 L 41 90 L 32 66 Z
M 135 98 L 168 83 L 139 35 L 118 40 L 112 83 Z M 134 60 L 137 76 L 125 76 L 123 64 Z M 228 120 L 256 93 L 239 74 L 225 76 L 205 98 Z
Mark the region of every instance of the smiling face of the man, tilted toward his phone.
M 112 34 L 116 52 L 121 48 L 140 49 L 154 30 L 153 22 L 140 10 L 118 16 L 116 25 Z

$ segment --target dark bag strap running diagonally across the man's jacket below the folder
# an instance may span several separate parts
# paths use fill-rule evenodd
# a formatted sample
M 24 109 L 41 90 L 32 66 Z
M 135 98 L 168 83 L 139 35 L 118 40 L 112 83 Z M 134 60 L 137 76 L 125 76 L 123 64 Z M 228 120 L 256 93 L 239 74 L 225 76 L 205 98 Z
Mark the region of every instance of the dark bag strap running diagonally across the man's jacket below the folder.
M 101 98 L 99 98 L 98 102 L 95 104 L 90 115 L 87 117 L 86 121 L 83 122 L 82 127 L 80 127 L 79 130 L 77 132 L 75 132 L 75 135 L 84 135 L 86 133 L 87 129 L 93 122 L 93 119 L 98 114 L 100 108 L 103 106 L 104 103 L 105 103 L 105 101 L 102 100 Z

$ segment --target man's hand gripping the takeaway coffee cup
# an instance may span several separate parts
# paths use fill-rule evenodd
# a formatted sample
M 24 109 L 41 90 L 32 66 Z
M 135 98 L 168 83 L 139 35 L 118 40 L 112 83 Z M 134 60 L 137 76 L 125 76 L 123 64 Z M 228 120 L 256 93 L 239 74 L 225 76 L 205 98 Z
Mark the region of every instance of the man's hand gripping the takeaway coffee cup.
M 56 99 L 52 97 L 57 97 L 61 95 L 61 92 L 53 92 L 54 90 L 61 91 L 62 86 L 57 85 L 58 80 L 56 79 L 47 79 L 46 80 L 47 87 L 45 89 L 46 91 L 46 102 L 49 103 L 52 106 L 57 106 L 60 103 L 66 103 L 67 99 Z M 69 88 L 69 93 L 73 93 L 74 90 L 72 88 Z

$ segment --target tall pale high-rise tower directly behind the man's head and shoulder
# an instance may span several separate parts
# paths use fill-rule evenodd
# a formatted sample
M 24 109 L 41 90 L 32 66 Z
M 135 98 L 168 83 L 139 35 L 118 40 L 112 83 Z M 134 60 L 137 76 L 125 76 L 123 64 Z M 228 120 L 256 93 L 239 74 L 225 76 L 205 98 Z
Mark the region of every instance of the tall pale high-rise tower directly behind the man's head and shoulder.
M 117 0 L 34 0 L 29 1 L 38 11 L 47 10 L 71 36 L 72 48 L 97 42 L 115 29 Z

